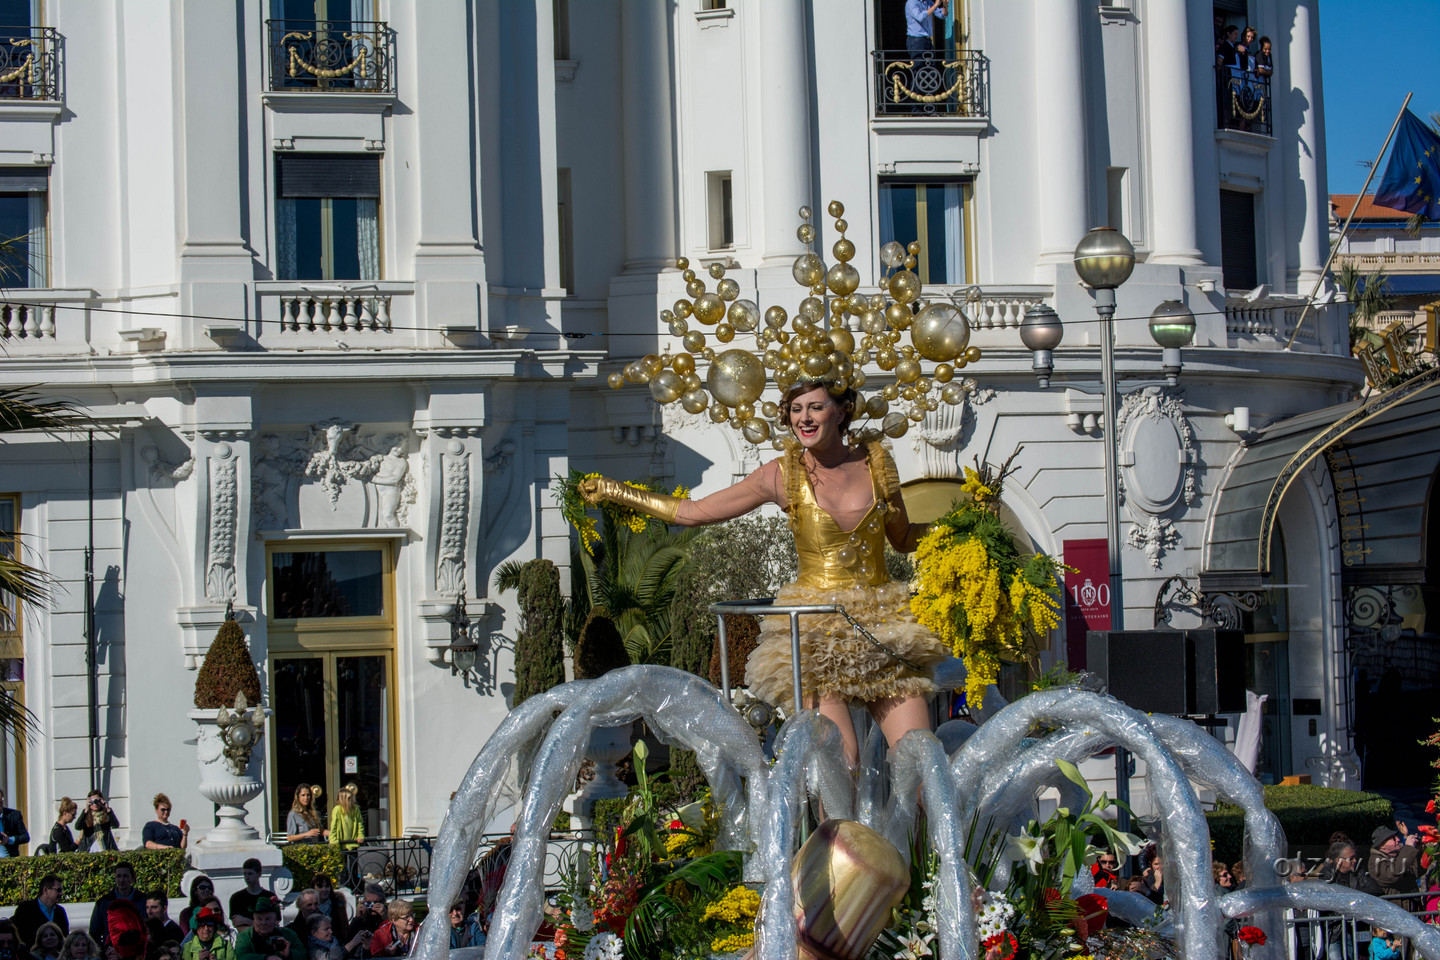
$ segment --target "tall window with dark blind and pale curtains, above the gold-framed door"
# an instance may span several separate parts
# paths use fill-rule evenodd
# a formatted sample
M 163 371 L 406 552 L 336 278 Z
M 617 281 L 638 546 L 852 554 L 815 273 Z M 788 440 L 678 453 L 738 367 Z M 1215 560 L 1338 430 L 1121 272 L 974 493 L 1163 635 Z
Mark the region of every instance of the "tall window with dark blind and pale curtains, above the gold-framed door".
M 380 279 L 379 157 L 275 157 L 275 279 Z

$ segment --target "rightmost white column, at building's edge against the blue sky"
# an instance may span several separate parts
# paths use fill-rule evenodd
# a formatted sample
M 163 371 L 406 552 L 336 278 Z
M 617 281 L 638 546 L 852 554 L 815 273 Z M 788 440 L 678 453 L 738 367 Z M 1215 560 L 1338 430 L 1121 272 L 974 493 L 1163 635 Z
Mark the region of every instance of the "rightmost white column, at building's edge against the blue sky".
M 1325 102 L 1320 94 L 1320 22 L 1316 0 L 1296 0 L 1289 43 L 1276 50 L 1272 78 L 1276 138 L 1286 144 L 1286 239 L 1295 292 L 1309 295 L 1329 253 L 1329 194 L 1325 187 Z M 1277 45 L 1280 46 L 1280 45 Z M 1280 82 L 1289 73 L 1289 82 Z M 1284 91 L 1284 92 L 1280 92 Z M 1295 130 L 1296 135 L 1289 137 Z

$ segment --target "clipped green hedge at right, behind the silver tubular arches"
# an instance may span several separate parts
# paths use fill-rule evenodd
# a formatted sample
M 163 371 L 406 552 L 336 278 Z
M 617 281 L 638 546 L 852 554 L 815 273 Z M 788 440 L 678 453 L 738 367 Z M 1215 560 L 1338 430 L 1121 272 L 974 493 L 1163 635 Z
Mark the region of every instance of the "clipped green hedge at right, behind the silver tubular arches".
M 1270 786 L 1264 789 L 1264 805 L 1274 812 L 1290 848 L 1328 846 L 1331 833 L 1341 830 L 1356 845 L 1369 843 L 1371 832 L 1381 825 L 1394 825 L 1390 800 L 1359 790 L 1336 790 L 1309 783 L 1299 786 Z M 1205 815 L 1215 859 L 1231 864 L 1241 856 L 1244 812 L 1221 803 Z

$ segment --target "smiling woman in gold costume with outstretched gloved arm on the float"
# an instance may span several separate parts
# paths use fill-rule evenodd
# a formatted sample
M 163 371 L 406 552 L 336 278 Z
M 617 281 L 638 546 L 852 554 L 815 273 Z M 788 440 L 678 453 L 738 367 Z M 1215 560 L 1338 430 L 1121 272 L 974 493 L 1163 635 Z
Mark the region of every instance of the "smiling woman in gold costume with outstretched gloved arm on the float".
M 835 723 L 854 766 L 858 744 L 850 702 L 870 708 L 894 746 L 910 730 L 929 730 L 926 701 L 935 694 L 932 668 L 950 656 L 910 613 L 910 592 L 886 573 L 884 541 L 914 550 L 924 524 L 912 524 L 900 498 L 894 461 L 878 439 L 851 443 L 855 391 L 831 396 L 822 381 L 786 390 L 782 416 L 793 440 L 783 455 L 739 484 L 703 499 L 652 494 L 605 478 L 585 481 L 592 504 L 616 502 L 681 527 L 733 520 L 762 504 L 789 514 L 799 577 L 780 589 L 778 603 L 835 603 L 861 623 L 864 636 L 835 615 L 801 619 L 801 685 L 806 707 Z M 791 635 L 785 617 L 769 617 L 750 655 L 750 692 L 789 704 Z

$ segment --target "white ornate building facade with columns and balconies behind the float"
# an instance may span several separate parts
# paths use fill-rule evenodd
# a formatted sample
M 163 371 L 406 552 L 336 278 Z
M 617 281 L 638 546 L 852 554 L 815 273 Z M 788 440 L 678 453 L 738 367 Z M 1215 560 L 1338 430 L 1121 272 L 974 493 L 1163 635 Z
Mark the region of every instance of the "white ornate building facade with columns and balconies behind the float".
M 1295 328 L 1328 249 L 1318 3 L 955 6 L 959 53 L 922 75 L 896 66 L 899 0 L 36 4 L 49 86 L 0 83 L 0 204 L 30 236 L 0 370 L 104 429 L 92 466 L 85 438 L 0 456 L 0 507 L 62 583 L 9 640 L 45 725 L 6 769 L 30 822 L 92 769 L 127 826 L 156 790 L 209 822 L 187 710 L 233 606 L 275 711 L 252 820 L 275 828 L 297 782 L 359 782 L 373 835 L 436 829 L 505 712 L 516 603 L 494 571 L 569 560 L 552 479 L 704 494 L 772 455 L 603 389 L 662 345 L 672 258 L 793 307 L 796 210 L 831 199 L 861 289 L 884 240 L 919 235 L 927 296 L 984 291 L 971 402 L 896 443 L 901 475 L 1024 443 L 1007 505 L 1061 556 L 1104 537 L 1109 426 L 1071 250 L 1096 225 L 1133 240 L 1125 620 L 1151 626 L 1174 574 L 1236 610 L 1261 569 L 1290 584 L 1236 613 L 1251 682 L 1283 701 L 1267 771 L 1354 782 L 1329 469 L 1279 502 L 1287 566 L 1231 563 L 1214 530 L 1248 436 L 1225 416 L 1259 429 L 1362 381 L 1336 307 Z M 1217 16 L 1274 39 L 1243 121 Z M 914 99 L 924 83 L 937 96 Z M 1166 299 L 1198 322 L 1178 387 L 1146 328 Z M 1038 302 L 1067 325 L 1048 390 L 1018 338 Z M 482 638 L 465 674 L 459 594 Z

